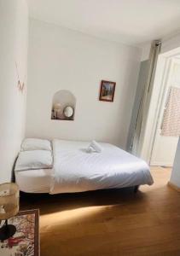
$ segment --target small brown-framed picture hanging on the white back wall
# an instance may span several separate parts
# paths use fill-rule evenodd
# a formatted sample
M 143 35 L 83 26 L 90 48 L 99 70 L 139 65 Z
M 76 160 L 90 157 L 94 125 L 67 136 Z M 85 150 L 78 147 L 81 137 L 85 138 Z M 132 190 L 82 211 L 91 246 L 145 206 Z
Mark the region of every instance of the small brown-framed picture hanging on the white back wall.
M 102 102 L 113 102 L 116 83 L 102 80 L 99 100 Z

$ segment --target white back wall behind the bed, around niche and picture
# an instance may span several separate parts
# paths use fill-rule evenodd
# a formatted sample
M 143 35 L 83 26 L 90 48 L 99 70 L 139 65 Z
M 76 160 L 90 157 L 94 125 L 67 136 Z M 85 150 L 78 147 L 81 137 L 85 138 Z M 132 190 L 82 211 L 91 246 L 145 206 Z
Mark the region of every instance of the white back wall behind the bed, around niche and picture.
M 115 143 L 125 148 L 140 49 L 43 21 L 30 21 L 26 137 Z M 114 102 L 99 102 L 101 79 L 115 81 Z M 50 119 L 57 90 L 77 98 L 74 121 Z

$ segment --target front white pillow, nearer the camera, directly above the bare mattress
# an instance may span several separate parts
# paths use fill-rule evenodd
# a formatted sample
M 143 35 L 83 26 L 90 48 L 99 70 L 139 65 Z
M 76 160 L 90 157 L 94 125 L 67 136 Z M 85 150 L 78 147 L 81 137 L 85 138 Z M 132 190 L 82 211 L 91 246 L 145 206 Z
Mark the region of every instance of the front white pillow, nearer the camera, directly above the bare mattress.
M 47 150 L 22 151 L 15 164 L 15 171 L 52 168 L 53 157 Z

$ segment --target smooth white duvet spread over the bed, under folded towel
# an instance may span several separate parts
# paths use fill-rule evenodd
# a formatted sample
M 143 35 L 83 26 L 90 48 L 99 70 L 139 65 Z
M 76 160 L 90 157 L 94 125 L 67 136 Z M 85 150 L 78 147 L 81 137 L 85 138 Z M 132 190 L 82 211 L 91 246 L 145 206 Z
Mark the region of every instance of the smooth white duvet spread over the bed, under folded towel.
M 87 153 L 89 144 L 53 140 L 54 174 L 50 194 L 154 183 L 143 160 L 107 143 L 101 143 L 102 153 Z

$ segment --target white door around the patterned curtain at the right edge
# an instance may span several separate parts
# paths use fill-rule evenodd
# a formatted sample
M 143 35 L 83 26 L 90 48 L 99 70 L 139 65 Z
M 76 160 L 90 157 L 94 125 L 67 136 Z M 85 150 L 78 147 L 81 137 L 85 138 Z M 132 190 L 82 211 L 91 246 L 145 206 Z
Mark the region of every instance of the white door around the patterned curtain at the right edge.
M 165 86 L 162 93 L 159 116 L 154 132 L 154 143 L 150 155 L 150 166 L 172 167 L 177 150 L 178 137 L 162 136 L 161 125 L 171 86 L 180 88 L 180 55 L 170 57 L 167 65 L 168 67 L 164 73 Z

